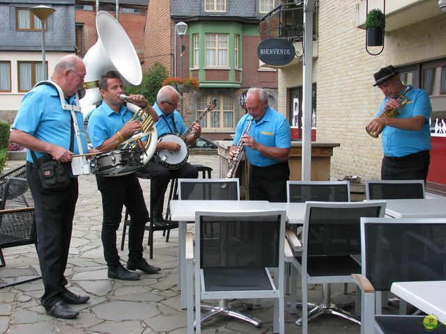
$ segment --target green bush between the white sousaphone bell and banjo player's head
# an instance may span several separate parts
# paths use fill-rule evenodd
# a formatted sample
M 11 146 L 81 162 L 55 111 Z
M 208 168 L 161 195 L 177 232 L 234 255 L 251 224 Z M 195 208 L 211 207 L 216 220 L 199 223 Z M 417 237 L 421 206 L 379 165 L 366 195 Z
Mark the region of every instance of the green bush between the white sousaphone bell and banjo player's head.
M 156 95 L 162 86 L 162 81 L 167 77 L 169 77 L 167 68 L 160 63 L 154 63 L 151 69 L 144 73 L 141 84 L 125 87 L 125 94 L 144 95 L 148 103 L 152 105 L 156 102 Z

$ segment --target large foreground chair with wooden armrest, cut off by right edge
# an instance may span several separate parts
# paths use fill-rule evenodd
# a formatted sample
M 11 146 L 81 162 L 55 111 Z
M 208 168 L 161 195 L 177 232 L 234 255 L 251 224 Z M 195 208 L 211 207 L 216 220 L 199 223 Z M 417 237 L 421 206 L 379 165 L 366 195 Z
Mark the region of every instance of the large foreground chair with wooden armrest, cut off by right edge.
M 361 334 L 426 333 L 424 316 L 375 315 L 375 297 L 394 282 L 446 280 L 446 218 L 361 218 L 361 239 Z

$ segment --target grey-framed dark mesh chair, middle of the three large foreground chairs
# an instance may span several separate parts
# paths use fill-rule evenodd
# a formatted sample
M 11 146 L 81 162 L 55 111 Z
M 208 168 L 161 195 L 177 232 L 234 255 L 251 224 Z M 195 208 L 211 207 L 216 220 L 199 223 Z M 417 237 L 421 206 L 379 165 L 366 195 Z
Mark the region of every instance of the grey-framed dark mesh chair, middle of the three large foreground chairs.
M 307 202 L 302 233 L 302 256 L 293 265 L 302 276 L 302 333 L 308 321 L 321 314 L 343 317 L 360 324 L 350 312 L 330 303 L 329 283 L 351 283 L 352 273 L 360 273 L 360 218 L 383 217 L 385 201 Z M 295 245 L 291 245 L 295 248 Z M 307 285 L 322 284 L 322 303 L 307 313 Z

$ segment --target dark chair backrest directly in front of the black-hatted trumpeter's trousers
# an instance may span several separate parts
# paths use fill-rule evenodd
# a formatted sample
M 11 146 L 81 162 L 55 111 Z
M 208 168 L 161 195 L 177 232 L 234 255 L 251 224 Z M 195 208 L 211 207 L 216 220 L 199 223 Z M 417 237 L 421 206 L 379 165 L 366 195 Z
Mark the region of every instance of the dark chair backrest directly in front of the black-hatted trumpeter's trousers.
M 423 180 L 366 180 L 367 200 L 406 200 L 425 198 Z

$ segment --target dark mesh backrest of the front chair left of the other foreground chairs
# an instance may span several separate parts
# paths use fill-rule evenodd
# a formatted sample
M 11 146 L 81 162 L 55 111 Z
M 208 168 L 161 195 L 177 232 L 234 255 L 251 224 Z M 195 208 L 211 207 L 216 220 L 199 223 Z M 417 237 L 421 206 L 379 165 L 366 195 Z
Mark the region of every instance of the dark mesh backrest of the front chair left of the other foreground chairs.
M 197 265 L 283 270 L 285 221 L 284 210 L 196 212 Z

